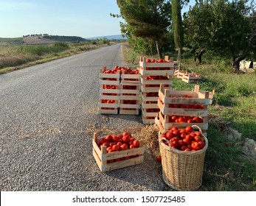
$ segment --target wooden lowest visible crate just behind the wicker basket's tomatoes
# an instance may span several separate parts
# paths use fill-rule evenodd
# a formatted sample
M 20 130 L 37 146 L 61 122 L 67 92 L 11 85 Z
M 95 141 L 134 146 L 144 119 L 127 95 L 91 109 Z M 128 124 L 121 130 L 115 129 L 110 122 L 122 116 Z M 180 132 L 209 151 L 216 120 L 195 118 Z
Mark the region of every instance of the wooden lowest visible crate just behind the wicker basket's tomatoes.
M 161 112 L 160 112 L 161 113 Z M 166 116 L 166 115 L 164 115 Z M 162 122 L 162 125 L 164 128 L 172 128 L 172 127 L 187 127 L 192 125 L 198 125 L 198 127 L 201 127 L 201 129 L 208 129 L 208 121 L 207 117 L 204 117 L 204 123 L 176 123 L 176 122 L 168 122 L 167 117 L 162 117 L 162 115 L 159 114 L 159 119 Z

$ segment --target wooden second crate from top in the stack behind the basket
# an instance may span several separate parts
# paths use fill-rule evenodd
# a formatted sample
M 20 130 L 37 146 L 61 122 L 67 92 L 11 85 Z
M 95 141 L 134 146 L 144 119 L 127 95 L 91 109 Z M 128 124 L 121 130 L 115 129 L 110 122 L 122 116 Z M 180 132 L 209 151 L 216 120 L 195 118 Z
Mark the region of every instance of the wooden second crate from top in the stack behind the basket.
M 173 108 L 168 107 L 168 104 L 162 104 L 160 99 L 157 103 L 160 111 L 164 115 L 169 116 L 208 116 L 208 110 L 206 109 L 187 109 L 187 108 Z M 207 107 L 207 106 L 206 106 Z

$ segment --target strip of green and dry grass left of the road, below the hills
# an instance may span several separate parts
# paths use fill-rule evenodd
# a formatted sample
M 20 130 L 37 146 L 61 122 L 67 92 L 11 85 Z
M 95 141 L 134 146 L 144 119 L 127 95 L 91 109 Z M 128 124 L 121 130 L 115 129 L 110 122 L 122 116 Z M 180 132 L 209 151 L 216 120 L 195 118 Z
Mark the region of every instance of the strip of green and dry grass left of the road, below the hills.
M 15 42 L 13 39 L 8 41 L 4 38 L 4 40 L 8 45 L 0 44 L 0 74 L 111 45 L 111 43 L 104 44 L 101 40 L 81 43 L 55 42 L 52 45 L 21 45 L 13 43 Z

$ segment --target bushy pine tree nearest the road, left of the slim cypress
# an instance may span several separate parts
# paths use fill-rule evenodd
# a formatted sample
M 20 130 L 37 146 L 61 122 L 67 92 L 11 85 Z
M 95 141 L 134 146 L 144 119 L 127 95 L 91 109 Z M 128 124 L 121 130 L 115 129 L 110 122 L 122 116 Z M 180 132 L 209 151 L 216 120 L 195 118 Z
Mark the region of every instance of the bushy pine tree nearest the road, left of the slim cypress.
M 162 58 L 161 41 L 170 31 L 170 2 L 166 0 L 117 0 L 120 15 L 126 24 L 121 31 L 130 37 L 144 38 L 156 43 L 159 58 Z

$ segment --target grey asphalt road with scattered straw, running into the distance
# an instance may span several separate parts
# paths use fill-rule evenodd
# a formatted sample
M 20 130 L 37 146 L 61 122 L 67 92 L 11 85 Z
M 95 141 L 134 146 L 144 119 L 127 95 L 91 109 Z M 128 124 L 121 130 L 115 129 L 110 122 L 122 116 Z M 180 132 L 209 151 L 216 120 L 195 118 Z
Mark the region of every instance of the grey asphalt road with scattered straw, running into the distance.
M 97 114 L 103 65 L 124 65 L 120 44 L 0 75 L 1 191 L 165 190 L 148 151 L 137 166 L 102 173 L 95 163 L 88 129 L 143 125 Z

